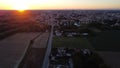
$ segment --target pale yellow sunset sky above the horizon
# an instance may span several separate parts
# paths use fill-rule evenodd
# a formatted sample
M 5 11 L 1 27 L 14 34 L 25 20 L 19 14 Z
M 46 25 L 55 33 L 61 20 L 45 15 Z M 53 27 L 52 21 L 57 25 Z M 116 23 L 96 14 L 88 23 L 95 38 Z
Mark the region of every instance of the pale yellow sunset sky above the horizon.
M 120 0 L 0 0 L 0 10 L 120 9 Z

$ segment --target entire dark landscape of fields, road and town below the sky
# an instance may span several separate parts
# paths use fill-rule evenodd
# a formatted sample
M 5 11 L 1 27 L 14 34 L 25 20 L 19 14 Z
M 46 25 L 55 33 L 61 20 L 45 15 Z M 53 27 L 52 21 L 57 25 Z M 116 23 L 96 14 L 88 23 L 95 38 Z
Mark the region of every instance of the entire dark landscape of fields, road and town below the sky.
M 120 10 L 0 11 L 2 68 L 120 68 Z

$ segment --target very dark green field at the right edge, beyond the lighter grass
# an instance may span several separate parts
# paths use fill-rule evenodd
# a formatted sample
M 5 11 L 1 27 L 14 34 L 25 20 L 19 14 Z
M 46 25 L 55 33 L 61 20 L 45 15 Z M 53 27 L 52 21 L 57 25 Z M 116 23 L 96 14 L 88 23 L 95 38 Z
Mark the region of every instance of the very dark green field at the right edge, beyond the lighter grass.
M 91 45 L 100 51 L 120 51 L 120 31 L 103 31 L 96 37 L 90 37 Z

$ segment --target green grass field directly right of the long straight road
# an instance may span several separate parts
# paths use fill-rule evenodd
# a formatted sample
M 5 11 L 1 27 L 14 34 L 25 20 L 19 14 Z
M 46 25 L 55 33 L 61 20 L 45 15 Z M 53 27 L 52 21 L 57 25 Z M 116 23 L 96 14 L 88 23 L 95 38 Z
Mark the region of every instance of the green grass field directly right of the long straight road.
M 89 41 L 83 37 L 53 37 L 52 46 L 93 49 Z

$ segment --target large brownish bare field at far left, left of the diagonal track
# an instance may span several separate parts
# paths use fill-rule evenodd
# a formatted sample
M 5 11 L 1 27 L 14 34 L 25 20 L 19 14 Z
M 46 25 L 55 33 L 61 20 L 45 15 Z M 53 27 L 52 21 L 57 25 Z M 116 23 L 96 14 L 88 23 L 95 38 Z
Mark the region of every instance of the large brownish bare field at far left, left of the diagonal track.
M 0 68 L 14 68 L 36 33 L 17 33 L 0 41 Z

